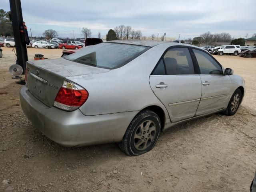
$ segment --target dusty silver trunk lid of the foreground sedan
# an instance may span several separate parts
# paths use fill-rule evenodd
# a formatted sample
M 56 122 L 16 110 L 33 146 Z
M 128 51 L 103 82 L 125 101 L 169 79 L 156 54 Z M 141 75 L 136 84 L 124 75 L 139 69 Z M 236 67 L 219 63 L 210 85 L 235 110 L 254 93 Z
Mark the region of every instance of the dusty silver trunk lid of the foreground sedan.
M 47 106 L 53 106 L 63 79 L 71 76 L 97 74 L 110 71 L 58 58 L 26 62 L 28 90 Z

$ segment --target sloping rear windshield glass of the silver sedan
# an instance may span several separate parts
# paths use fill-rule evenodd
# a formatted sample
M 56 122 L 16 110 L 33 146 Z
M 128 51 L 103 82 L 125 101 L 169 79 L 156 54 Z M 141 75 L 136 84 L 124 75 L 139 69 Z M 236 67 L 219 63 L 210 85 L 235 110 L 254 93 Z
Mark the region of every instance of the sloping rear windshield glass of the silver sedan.
M 124 66 L 150 47 L 119 43 L 100 43 L 83 48 L 65 59 L 85 65 L 115 69 Z

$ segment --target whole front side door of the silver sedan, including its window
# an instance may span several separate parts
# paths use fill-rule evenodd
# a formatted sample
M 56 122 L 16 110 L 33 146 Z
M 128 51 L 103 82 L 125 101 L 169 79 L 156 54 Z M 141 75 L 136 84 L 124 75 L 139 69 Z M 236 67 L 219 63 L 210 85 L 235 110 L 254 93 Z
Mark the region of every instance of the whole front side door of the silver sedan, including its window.
M 196 115 L 223 109 L 228 104 L 231 78 L 223 75 L 222 66 L 208 53 L 193 48 L 200 69 L 202 97 Z

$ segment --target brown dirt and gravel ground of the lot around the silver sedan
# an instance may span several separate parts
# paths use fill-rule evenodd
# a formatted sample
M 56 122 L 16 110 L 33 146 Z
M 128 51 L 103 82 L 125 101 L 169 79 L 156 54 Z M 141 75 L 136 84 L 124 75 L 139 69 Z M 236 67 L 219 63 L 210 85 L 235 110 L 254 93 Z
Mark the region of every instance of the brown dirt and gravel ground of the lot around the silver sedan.
M 11 50 L 3 48 L 0 58 L 0 192 L 249 191 L 256 169 L 256 58 L 216 56 L 246 82 L 234 116 L 181 124 L 163 132 L 152 151 L 129 157 L 117 144 L 64 148 L 36 130 L 20 108 L 21 85 L 8 73 Z M 28 56 L 61 52 L 29 48 Z

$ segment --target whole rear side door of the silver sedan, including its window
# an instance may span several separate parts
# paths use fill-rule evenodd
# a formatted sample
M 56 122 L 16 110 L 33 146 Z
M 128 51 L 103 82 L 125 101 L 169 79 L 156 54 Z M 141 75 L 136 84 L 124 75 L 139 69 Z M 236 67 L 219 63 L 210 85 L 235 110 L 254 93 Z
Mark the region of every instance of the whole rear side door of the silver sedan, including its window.
M 202 84 L 186 46 L 166 50 L 150 75 L 150 86 L 172 122 L 195 116 Z

